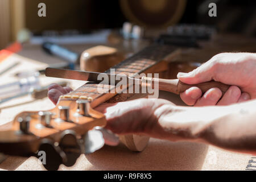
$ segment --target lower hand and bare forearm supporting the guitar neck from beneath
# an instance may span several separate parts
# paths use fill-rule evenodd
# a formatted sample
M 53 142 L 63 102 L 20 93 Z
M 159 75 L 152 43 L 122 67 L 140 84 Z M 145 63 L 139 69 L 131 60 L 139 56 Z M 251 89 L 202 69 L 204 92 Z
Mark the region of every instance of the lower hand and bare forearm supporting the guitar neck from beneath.
M 67 92 L 58 85 L 51 87 L 54 88 L 50 89 L 51 100 Z M 255 136 L 254 127 L 251 127 L 255 125 L 255 101 L 222 107 L 184 107 L 167 100 L 142 98 L 101 104 L 95 109 L 105 113 L 106 128 L 117 134 L 145 134 L 171 141 L 203 142 L 255 155 L 255 147 L 251 147 L 255 143 L 255 137 L 251 137 Z M 104 139 L 106 144 L 113 145 Z

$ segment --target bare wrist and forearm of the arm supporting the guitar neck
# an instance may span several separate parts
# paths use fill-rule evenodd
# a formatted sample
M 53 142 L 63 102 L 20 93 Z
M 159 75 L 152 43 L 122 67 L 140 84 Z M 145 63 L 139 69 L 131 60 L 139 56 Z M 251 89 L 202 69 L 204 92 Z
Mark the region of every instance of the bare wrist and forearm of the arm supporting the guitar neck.
M 171 110 L 167 111 L 167 107 Z M 204 142 L 256 154 L 255 100 L 230 106 L 163 105 L 155 115 L 158 122 L 152 133 L 158 138 Z

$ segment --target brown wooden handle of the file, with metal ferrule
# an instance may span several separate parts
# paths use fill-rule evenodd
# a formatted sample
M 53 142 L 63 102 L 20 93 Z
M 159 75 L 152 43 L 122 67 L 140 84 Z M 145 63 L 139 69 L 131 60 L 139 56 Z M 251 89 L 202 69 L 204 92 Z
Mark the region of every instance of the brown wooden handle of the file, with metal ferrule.
M 168 80 L 161 78 L 142 77 L 142 85 L 144 83 L 146 83 L 146 85 L 152 84 L 152 88 L 154 88 L 154 85 L 157 84 L 157 82 L 159 85 L 159 90 L 164 90 L 175 94 L 180 94 L 181 92 L 184 92 L 192 86 L 197 86 L 202 90 L 203 93 L 207 92 L 207 90 L 209 90 L 210 88 L 219 88 L 223 95 L 230 86 L 218 81 L 207 81 L 200 84 L 188 85 L 184 82 L 179 81 L 179 79 Z

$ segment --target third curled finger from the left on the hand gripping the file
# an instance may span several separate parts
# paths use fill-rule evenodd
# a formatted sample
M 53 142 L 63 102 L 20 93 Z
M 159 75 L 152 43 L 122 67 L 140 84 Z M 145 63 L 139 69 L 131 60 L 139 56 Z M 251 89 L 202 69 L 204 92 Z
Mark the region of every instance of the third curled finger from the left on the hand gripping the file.
M 230 105 L 236 103 L 241 96 L 241 90 L 237 86 L 230 86 L 217 105 Z

